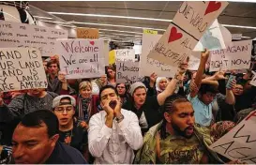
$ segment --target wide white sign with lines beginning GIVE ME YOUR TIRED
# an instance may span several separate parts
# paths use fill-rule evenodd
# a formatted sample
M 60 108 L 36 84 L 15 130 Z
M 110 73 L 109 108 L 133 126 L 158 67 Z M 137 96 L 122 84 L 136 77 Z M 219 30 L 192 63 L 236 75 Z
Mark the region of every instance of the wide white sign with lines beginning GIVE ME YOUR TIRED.
M 67 30 L 42 27 L 26 23 L 0 21 L 0 47 L 31 47 L 42 56 L 54 55 L 56 38 L 67 38 Z

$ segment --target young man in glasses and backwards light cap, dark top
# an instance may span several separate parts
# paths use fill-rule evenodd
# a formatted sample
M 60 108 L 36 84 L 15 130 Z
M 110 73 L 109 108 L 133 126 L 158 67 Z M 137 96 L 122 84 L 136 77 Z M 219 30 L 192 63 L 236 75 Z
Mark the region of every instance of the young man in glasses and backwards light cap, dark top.
M 78 149 L 88 161 L 87 124 L 82 119 L 74 117 L 75 98 L 62 95 L 53 99 L 53 113 L 59 120 L 59 142 L 66 143 Z

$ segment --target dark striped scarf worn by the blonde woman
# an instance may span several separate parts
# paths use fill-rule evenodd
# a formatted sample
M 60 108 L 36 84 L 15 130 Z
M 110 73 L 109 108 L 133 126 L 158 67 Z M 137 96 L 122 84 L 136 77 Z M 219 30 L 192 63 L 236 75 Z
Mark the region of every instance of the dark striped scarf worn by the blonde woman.
M 89 121 L 89 118 L 91 116 L 91 100 L 90 98 L 82 98 L 81 95 L 78 96 L 78 116 L 79 118 L 82 118 L 86 122 Z

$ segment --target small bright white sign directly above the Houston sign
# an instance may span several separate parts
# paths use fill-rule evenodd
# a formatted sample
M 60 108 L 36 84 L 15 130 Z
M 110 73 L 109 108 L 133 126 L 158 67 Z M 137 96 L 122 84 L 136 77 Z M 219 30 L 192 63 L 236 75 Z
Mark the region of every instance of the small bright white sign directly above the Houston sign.
M 135 50 L 114 50 L 116 61 L 135 61 Z

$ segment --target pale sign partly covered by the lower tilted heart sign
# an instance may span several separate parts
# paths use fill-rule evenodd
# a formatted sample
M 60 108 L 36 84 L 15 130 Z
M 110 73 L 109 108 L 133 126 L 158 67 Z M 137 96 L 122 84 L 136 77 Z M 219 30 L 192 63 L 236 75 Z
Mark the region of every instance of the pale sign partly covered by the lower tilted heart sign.
M 160 77 L 173 77 L 175 68 L 168 66 L 158 60 L 148 58 L 148 53 L 158 43 L 161 35 L 143 34 L 143 52 L 140 61 L 140 76 L 150 76 L 153 72 Z

